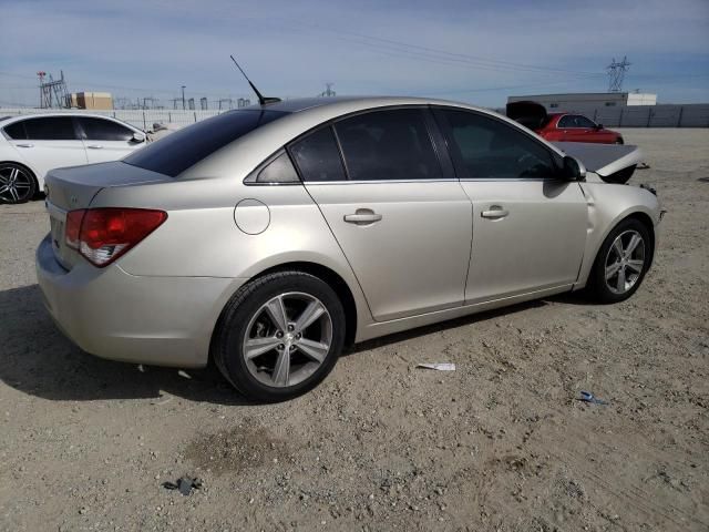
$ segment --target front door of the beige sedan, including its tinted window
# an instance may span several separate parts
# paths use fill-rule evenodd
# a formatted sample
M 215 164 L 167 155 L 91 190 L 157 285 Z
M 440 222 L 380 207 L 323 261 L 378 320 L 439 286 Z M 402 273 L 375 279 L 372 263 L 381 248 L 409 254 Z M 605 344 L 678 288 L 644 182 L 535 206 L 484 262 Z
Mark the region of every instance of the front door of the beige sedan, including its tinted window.
M 521 127 L 472 111 L 435 115 L 473 203 L 465 303 L 571 287 L 588 226 L 579 184 L 558 178 L 551 150 Z

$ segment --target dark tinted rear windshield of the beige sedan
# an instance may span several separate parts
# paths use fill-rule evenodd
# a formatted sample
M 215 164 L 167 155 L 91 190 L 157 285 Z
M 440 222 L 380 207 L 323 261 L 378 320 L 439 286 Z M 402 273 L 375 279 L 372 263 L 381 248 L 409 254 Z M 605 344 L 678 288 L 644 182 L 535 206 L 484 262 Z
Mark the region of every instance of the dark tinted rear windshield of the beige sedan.
M 175 177 L 229 142 L 286 114 L 250 109 L 229 111 L 171 133 L 123 162 Z

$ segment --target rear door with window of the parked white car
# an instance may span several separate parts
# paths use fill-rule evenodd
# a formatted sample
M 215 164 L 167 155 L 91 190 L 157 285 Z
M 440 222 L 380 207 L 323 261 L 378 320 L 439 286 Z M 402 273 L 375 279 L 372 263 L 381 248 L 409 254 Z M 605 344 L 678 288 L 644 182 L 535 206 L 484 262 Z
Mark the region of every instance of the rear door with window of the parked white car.
M 43 180 L 52 168 L 86 164 L 86 152 L 71 116 L 38 116 L 16 122 L 12 144 L 20 156 Z

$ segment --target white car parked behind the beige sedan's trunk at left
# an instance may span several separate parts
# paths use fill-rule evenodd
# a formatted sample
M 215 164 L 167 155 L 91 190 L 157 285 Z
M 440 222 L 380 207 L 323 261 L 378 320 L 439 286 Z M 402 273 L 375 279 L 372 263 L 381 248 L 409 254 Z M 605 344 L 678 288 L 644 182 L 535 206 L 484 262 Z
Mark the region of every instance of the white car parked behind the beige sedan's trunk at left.
M 117 161 L 145 144 L 145 133 L 109 116 L 24 114 L 0 119 L 0 203 L 24 203 L 52 168 Z

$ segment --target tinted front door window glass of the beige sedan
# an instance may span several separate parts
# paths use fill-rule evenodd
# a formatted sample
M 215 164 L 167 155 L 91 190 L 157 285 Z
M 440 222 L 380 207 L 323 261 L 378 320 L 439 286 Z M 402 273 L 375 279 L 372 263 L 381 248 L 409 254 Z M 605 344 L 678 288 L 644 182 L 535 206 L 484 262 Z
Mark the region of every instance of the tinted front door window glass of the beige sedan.
M 449 146 L 461 178 L 553 177 L 556 167 L 540 142 L 502 121 L 476 113 L 442 110 Z

